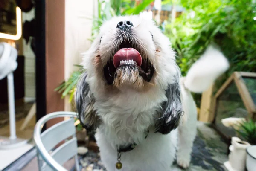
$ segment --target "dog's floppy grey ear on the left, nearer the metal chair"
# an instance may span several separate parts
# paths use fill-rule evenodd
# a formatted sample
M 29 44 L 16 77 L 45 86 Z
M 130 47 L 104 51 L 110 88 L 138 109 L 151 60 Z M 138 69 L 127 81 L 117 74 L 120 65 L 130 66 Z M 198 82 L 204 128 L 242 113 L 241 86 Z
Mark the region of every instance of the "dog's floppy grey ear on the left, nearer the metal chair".
M 96 129 L 99 118 L 93 108 L 95 99 L 90 91 L 89 84 L 86 81 L 87 73 L 81 74 L 76 86 L 76 110 L 81 125 L 88 131 Z

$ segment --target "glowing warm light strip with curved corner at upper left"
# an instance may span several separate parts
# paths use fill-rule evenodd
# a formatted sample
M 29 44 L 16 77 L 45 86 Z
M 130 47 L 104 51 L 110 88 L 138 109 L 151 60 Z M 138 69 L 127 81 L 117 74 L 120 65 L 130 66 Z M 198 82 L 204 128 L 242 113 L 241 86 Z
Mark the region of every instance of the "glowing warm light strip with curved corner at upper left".
M 19 7 L 16 7 L 16 24 L 17 24 L 17 34 L 9 35 L 5 33 L 0 33 L 0 38 L 9 39 L 9 40 L 19 40 L 22 35 L 22 22 L 21 22 L 21 10 Z

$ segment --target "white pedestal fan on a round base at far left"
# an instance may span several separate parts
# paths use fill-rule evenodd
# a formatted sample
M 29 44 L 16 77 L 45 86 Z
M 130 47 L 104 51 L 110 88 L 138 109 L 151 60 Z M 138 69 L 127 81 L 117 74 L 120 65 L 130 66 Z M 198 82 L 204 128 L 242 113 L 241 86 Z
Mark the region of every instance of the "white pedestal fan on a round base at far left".
M 13 72 L 17 68 L 17 49 L 5 42 L 0 42 L 0 80 L 7 76 L 8 83 L 8 105 L 9 105 L 9 125 L 10 136 L 0 136 L 0 149 L 17 148 L 25 145 L 28 140 L 19 139 L 16 136 L 15 125 L 15 95 Z

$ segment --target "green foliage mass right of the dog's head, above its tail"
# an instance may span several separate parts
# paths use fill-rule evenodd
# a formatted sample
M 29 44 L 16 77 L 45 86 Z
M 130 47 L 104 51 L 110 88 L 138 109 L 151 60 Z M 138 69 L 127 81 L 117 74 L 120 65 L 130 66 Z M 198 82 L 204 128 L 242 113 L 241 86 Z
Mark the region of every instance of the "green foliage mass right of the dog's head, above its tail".
M 230 69 L 217 87 L 234 71 L 256 72 L 256 3 L 253 0 L 175 0 L 185 10 L 167 21 L 165 35 L 177 51 L 183 75 L 210 43 L 228 58 Z

